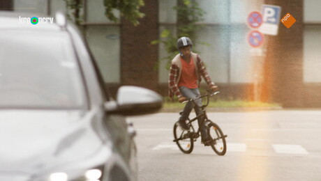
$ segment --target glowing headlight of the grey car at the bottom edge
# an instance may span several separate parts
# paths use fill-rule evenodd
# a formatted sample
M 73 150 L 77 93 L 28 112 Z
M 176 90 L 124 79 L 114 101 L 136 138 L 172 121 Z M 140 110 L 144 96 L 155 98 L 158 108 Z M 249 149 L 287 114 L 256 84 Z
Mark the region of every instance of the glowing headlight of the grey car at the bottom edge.
M 68 175 L 64 172 L 59 173 L 52 173 L 49 176 L 49 181 L 100 181 L 103 178 L 103 169 L 101 168 L 94 168 L 85 171 L 82 175 L 76 177 L 75 175 L 71 174 Z

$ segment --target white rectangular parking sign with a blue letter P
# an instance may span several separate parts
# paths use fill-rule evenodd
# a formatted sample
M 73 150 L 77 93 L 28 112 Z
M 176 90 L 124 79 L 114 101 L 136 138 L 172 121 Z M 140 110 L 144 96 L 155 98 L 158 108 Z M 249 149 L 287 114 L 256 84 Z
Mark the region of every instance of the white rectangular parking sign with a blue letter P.
M 281 6 L 263 4 L 261 13 L 263 23 L 260 26 L 260 32 L 276 36 L 278 34 L 278 24 L 280 23 Z

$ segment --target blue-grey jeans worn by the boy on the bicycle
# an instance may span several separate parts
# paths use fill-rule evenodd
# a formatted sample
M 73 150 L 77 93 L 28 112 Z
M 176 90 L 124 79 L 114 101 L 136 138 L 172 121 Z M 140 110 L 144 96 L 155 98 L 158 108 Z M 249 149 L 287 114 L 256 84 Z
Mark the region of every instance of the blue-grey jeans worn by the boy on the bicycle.
M 193 99 L 195 97 L 200 96 L 200 90 L 198 88 L 186 88 L 184 86 L 180 86 L 179 91 L 181 91 L 181 94 L 184 97 L 186 97 L 187 99 Z M 198 100 L 195 100 L 195 104 L 193 102 L 188 102 L 185 105 L 183 114 L 181 115 L 179 120 L 187 120 L 193 107 L 194 107 L 194 110 L 195 110 L 195 113 L 197 116 L 203 113 L 202 108 L 201 108 L 202 107 L 202 100 L 198 99 Z M 198 122 L 198 126 L 200 126 L 202 123 L 202 118 L 198 118 L 197 122 Z M 206 131 L 205 125 L 200 128 L 200 132 L 202 135 L 202 139 L 207 139 L 207 131 Z

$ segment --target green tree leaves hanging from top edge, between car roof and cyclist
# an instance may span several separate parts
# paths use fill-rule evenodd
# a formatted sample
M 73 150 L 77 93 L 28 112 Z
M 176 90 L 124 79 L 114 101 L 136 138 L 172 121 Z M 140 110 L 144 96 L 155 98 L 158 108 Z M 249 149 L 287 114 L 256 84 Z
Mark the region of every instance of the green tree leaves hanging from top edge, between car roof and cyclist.
M 75 22 L 77 26 L 82 24 L 84 19 L 82 15 L 84 0 L 64 1 L 66 1 L 67 6 L 67 17 Z M 140 7 L 144 6 L 144 0 L 103 0 L 103 5 L 105 6 L 105 16 L 113 22 L 119 21 L 113 10 L 119 10 L 121 16 L 124 16 L 134 25 L 140 24 L 138 19 L 144 17 L 144 13 L 140 12 Z

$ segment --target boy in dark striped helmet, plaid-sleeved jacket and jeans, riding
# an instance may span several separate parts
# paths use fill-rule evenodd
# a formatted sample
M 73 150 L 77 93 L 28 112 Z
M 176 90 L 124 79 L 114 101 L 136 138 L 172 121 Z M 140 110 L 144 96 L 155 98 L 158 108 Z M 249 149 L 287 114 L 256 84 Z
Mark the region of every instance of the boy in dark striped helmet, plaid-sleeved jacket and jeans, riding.
M 216 91 L 217 86 L 211 81 L 211 77 L 207 73 L 207 70 L 202 62 L 200 56 L 192 52 L 193 43 L 188 37 L 181 37 L 177 40 L 177 48 L 179 49 L 179 54 L 172 59 L 172 65 L 170 66 L 169 75 L 169 95 L 172 99 L 174 95 L 179 97 L 179 102 L 184 102 L 188 99 L 193 99 L 200 96 L 200 81 L 201 76 L 209 85 L 211 91 Z M 195 109 L 196 115 L 202 114 L 202 100 L 195 100 L 195 105 L 193 102 L 188 102 L 184 111 L 179 118 L 179 125 L 182 129 L 188 130 L 188 125 L 186 125 L 186 120 L 191 113 L 193 107 Z M 198 125 L 202 123 L 202 118 L 197 120 Z M 207 136 L 206 127 L 200 128 L 202 143 L 206 144 L 209 141 Z

